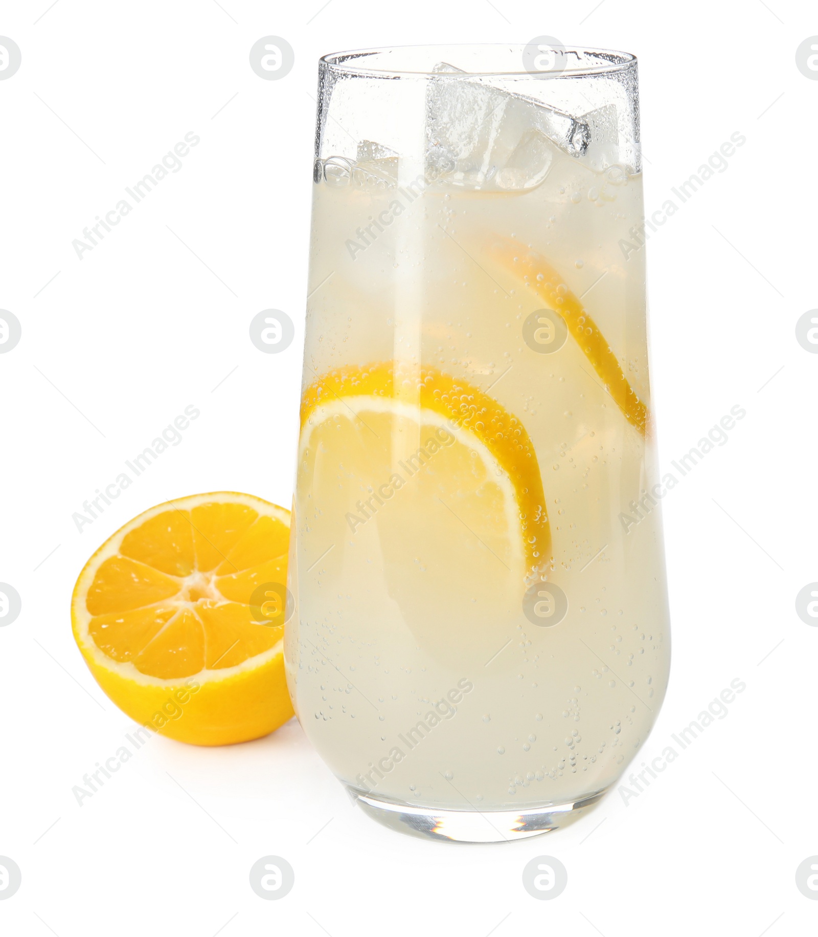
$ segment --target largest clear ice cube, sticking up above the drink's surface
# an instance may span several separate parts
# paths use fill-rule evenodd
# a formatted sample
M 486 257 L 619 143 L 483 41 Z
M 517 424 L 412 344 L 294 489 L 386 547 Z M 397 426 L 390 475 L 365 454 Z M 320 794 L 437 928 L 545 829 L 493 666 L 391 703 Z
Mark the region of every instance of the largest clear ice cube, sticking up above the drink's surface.
M 432 70 L 462 73 L 446 63 Z M 470 188 L 533 188 L 559 150 L 583 156 L 592 143 L 592 128 L 582 118 L 480 78 L 431 79 L 426 118 L 427 172 Z

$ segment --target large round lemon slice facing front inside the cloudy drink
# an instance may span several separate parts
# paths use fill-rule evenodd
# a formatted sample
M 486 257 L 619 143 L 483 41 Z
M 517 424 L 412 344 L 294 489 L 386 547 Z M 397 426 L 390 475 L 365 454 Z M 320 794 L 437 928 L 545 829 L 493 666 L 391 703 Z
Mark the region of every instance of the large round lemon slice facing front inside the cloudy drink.
M 496 650 L 527 577 L 551 558 L 540 469 L 519 419 L 462 379 L 391 364 L 324 375 L 301 416 L 299 542 L 315 558 L 328 551 L 299 598 L 301 620 L 313 618 L 313 600 L 323 614 L 331 581 L 371 592 L 372 615 L 391 607 L 432 653 L 478 647 L 481 633 Z

